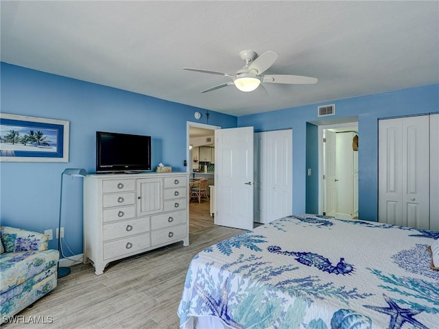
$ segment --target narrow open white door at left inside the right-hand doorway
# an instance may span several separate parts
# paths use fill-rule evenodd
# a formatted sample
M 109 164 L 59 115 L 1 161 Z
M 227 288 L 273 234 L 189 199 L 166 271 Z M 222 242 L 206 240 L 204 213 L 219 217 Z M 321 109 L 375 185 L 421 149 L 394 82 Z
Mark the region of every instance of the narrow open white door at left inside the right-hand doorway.
M 323 156 L 324 156 L 324 214 L 335 216 L 337 212 L 337 156 L 336 134 L 324 130 Z

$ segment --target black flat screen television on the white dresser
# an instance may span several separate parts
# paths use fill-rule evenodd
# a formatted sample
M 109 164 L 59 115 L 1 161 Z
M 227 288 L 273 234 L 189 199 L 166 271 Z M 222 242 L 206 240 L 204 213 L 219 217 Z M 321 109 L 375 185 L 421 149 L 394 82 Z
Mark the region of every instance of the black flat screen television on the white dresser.
M 96 173 L 151 170 L 151 136 L 96 132 Z

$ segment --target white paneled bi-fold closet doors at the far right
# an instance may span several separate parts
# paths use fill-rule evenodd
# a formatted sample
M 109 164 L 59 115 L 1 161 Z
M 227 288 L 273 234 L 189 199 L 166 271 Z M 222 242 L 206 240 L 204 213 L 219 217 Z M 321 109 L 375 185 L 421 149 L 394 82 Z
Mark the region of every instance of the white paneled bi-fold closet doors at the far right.
M 378 221 L 439 229 L 439 114 L 379 121 Z

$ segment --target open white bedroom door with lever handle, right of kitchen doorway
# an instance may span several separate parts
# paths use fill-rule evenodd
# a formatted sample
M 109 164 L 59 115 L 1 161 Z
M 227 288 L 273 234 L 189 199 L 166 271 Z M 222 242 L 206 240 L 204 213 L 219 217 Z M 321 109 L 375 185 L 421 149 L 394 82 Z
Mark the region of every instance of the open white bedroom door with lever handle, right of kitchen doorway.
M 253 127 L 215 130 L 215 224 L 253 229 Z

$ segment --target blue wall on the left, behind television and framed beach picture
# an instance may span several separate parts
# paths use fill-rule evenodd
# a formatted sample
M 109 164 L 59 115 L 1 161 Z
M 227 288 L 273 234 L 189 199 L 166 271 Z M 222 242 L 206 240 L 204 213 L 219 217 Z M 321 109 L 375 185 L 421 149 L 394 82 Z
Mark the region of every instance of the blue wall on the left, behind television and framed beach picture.
M 1 112 L 70 121 L 69 162 L 0 162 L 1 224 L 43 232 L 58 227 L 60 175 L 95 171 L 97 130 L 152 136 L 152 166 L 186 171 L 187 121 L 200 108 L 1 63 Z M 210 112 L 209 124 L 236 127 L 237 118 Z M 205 117 L 205 116 L 204 116 Z M 196 121 L 205 123 L 204 119 Z M 82 179 L 64 176 L 65 241 L 82 253 Z M 56 248 L 56 240 L 49 243 Z

